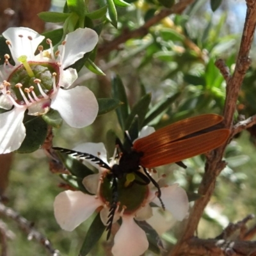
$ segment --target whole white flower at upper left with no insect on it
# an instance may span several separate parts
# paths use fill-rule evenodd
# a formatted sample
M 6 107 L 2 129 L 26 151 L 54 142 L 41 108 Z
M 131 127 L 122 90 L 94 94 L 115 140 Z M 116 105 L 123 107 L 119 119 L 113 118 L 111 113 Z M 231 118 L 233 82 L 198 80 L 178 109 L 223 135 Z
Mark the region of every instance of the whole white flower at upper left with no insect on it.
M 22 123 L 28 115 L 43 115 L 50 108 L 56 109 L 68 125 L 81 128 L 92 124 L 99 106 L 93 93 L 84 86 L 69 89 L 77 79 L 72 63 L 93 50 L 98 35 L 89 28 L 69 33 L 55 52 L 51 40 L 49 51 L 38 46 L 44 39 L 29 28 L 9 28 L 3 33 L 15 65 L 4 56 L 0 67 L 0 108 L 11 109 L 0 114 L 0 154 L 20 147 L 26 136 Z M 35 56 L 38 49 L 40 53 Z M 13 108 L 14 107 L 14 108 Z

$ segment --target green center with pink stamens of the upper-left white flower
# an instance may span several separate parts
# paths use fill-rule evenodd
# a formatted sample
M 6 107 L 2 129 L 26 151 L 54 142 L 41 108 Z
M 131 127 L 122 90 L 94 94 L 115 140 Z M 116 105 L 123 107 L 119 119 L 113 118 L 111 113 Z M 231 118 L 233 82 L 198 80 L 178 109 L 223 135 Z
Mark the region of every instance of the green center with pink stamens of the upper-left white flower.
M 17 107 L 28 107 L 40 100 L 49 99 L 49 95 L 56 92 L 59 80 L 56 76 L 60 68 L 56 63 L 27 62 L 25 57 L 19 58 L 22 65 L 10 74 L 7 81 L 0 84 L 1 92 L 8 95 Z

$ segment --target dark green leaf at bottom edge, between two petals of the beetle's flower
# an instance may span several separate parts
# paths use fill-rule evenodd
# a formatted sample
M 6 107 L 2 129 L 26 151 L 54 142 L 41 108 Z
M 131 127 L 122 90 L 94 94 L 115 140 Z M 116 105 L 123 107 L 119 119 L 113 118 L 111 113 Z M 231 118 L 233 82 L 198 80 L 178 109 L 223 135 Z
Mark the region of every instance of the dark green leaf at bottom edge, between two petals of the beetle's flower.
M 97 241 L 99 241 L 100 237 L 102 236 L 105 228 L 106 227 L 103 225 L 100 219 L 100 213 L 98 213 L 86 234 L 83 245 L 79 252 L 79 256 L 85 256 L 90 252 L 90 250 L 92 250 L 93 246 L 97 243 Z

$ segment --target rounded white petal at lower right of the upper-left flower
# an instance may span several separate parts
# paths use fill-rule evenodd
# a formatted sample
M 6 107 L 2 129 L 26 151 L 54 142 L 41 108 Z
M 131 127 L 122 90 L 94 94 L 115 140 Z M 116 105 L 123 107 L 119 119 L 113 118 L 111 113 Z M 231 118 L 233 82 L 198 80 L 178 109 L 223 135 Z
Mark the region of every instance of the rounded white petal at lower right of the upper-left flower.
M 59 111 L 71 127 L 82 128 L 95 120 L 99 105 L 94 94 L 84 86 L 70 90 L 59 89 L 53 96 L 51 108 Z

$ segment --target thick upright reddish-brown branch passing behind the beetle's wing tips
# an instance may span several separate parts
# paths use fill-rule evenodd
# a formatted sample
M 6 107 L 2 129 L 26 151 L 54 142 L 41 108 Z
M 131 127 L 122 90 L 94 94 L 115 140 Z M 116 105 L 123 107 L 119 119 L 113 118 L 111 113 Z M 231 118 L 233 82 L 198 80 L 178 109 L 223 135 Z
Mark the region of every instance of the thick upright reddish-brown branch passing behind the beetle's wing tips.
M 233 116 L 236 111 L 236 102 L 241 88 L 241 84 L 244 79 L 244 75 L 250 65 L 249 52 L 252 45 L 253 34 L 256 26 L 256 0 L 247 0 L 247 12 L 246 20 L 244 23 L 244 30 L 241 39 L 241 45 L 239 54 L 236 61 L 236 68 L 234 74 L 227 83 L 227 97 L 224 108 L 224 122 L 225 127 L 232 127 Z M 221 170 L 226 166 L 226 163 L 222 161 L 225 147 L 223 145 L 216 150 L 213 150 L 209 156 L 207 156 L 207 163 L 205 164 L 205 173 L 202 178 L 202 182 L 199 186 L 198 193 L 204 195 L 196 200 L 188 219 L 188 225 L 184 228 L 183 235 L 180 241 L 173 248 L 170 255 L 180 255 L 184 252 L 184 248 L 188 246 L 188 239 L 193 237 L 200 218 L 204 212 L 205 206 L 211 199 L 212 193 L 215 188 L 215 183 Z M 206 253 L 207 254 L 207 253 Z M 184 254 L 183 254 L 184 255 Z M 185 253 L 185 255 L 188 255 Z M 198 254 L 196 254 L 198 255 Z M 208 254 L 209 255 L 209 254 Z M 246 254 L 244 254 L 246 255 Z

